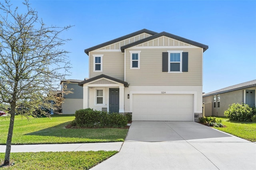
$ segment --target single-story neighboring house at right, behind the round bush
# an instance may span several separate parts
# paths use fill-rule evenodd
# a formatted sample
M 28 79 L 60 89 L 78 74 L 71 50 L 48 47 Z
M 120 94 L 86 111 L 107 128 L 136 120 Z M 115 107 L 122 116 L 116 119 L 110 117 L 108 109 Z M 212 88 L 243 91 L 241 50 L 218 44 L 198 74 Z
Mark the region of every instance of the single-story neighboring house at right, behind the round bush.
M 233 103 L 255 106 L 256 79 L 212 91 L 203 95 L 205 116 L 224 116 L 224 111 Z

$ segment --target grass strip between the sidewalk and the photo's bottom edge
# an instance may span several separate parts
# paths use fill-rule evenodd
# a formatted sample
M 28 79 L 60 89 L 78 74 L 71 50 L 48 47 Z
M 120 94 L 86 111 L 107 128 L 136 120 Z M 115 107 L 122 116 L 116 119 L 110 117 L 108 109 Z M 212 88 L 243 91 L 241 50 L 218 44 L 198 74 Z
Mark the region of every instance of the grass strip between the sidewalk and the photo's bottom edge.
M 118 151 L 78 151 L 78 152 L 22 152 L 11 153 L 13 166 L 2 167 L 7 170 L 88 170 L 113 156 Z M 4 153 L 0 153 L 0 165 Z M 0 169 L 2 169 L 0 166 Z

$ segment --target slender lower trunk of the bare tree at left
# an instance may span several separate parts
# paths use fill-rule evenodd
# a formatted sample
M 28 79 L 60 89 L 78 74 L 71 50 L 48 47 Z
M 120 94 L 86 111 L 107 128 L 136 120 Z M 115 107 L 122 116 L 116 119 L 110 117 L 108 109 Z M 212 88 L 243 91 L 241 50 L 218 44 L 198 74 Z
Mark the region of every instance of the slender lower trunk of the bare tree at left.
M 16 103 L 15 104 L 12 103 L 11 111 L 10 111 L 11 112 L 10 125 L 9 125 L 7 141 L 6 141 L 4 165 L 10 165 L 10 153 L 11 153 L 11 144 L 12 144 L 12 132 L 14 127 L 15 107 L 16 107 Z

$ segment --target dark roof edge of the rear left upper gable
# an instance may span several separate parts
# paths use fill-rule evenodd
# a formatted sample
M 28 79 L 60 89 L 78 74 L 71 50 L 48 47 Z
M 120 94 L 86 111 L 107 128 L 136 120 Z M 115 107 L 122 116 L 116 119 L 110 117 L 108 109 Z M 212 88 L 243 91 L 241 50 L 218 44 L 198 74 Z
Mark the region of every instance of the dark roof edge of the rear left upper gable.
M 131 38 L 131 37 L 133 37 L 133 36 L 137 36 L 137 35 L 142 34 L 142 33 L 147 33 L 147 34 L 150 34 L 150 35 L 158 34 L 157 32 L 154 32 L 154 31 L 150 31 L 150 30 L 147 30 L 147 29 L 142 29 L 142 30 L 133 32 L 133 33 L 131 33 L 131 34 L 128 34 L 128 35 L 126 35 L 126 36 L 122 36 L 122 37 L 120 37 L 120 38 L 116 38 L 116 39 L 114 39 L 114 40 L 110 40 L 110 41 L 108 41 L 108 42 L 101 43 L 101 44 L 96 45 L 96 46 L 94 46 L 94 47 L 87 48 L 87 49 L 84 50 L 84 52 L 85 52 L 87 55 L 89 55 L 89 52 L 90 52 L 90 51 L 93 51 L 93 50 L 95 50 L 95 49 L 99 49 L 99 48 L 101 48 L 101 47 L 104 47 L 104 46 L 106 46 L 106 45 L 110 45 L 110 44 L 112 44 L 112 43 L 120 42 L 120 41 L 122 41 L 122 40 L 125 40 L 125 39 L 127 39 L 127 38 Z

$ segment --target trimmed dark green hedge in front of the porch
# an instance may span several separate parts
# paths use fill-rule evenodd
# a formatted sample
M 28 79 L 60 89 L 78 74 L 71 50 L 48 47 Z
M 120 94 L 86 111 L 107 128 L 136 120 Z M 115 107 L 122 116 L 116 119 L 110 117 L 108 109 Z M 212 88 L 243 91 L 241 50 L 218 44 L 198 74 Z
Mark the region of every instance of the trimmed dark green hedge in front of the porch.
M 70 125 L 88 128 L 123 128 L 127 123 L 128 121 L 126 116 L 119 113 L 108 114 L 107 112 L 94 111 L 88 108 L 76 111 L 75 119 L 70 123 Z

